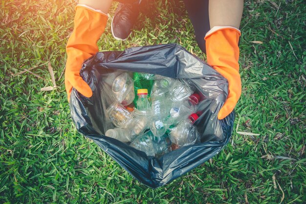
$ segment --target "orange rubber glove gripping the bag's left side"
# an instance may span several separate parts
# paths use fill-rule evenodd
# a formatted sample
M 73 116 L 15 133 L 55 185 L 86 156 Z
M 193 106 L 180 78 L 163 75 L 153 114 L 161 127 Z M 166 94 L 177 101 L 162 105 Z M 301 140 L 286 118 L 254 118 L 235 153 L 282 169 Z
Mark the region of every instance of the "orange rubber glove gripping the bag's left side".
M 74 29 L 66 46 L 65 86 L 68 101 L 73 87 L 86 97 L 92 95 L 90 87 L 80 76 L 80 69 L 85 60 L 99 51 L 97 42 L 108 20 L 106 14 L 86 5 L 77 5 L 75 11 Z

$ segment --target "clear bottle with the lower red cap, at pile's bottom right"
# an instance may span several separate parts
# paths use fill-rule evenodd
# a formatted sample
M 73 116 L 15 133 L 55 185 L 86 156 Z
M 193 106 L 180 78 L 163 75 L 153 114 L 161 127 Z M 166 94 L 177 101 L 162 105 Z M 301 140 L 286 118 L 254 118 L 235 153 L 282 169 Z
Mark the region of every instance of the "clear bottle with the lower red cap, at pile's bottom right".
M 197 114 L 193 113 L 189 116 L 189 119 L 183 120 L 175 127 L 169 129 L 170 140 L 177 146 L 177 148 L 199 142 L 200 135 L 197 131 L 197 127 L 193 125 L 197 118 Z

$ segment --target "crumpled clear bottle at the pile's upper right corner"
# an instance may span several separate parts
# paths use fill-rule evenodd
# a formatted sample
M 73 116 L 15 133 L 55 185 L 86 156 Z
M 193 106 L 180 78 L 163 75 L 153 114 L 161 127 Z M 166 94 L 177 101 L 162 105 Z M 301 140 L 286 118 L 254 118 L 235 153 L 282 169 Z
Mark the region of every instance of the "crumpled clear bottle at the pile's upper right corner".
M 172 101 L 182 101 L 188 98 L 195 91 L 195 87 L 187 80 L 175 80 L 170 88 L 170 98 Z

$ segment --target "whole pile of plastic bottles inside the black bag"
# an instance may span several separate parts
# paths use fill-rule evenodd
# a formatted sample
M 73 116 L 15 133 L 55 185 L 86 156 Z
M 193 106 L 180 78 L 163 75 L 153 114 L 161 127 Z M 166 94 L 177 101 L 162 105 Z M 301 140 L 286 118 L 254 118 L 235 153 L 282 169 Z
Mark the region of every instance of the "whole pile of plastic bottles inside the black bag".
M 197 104 L 200 96 L 188 80 L 134 72 L 111 85 L 116 101 L 107 114 L 116 126 L 105 135 L 129 143 L 148 156 L 160 156 L 200 142 Z

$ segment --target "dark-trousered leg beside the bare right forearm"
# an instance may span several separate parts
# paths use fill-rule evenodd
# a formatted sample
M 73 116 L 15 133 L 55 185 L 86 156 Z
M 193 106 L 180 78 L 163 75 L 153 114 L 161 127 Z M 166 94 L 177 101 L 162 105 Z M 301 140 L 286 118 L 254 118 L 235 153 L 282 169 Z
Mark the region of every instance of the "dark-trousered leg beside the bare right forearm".
M 204 36 L 210 30 L 208 0 L 184 0 L 184 3 L 195 29 L 197 45 L 206 53 Z

